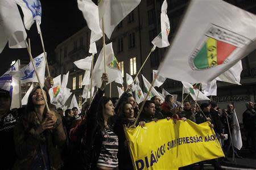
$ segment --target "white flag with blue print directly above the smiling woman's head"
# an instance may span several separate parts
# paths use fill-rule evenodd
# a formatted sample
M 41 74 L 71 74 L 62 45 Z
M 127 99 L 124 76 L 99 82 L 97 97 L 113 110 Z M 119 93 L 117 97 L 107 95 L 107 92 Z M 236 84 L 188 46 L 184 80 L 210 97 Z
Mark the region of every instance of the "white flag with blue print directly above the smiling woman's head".
M 46 72 L 46 61 L 44 59 L 44 54 L 40 54 L 38 57 L 35 57 L 34 59 L 36 71 L 38 72 L 39 80 L 44 86 L 44 74 Z M 38 79 L 36 78 L 35 70 L 32 65 L 32 62 L 28 63 L 28 65 L 24 66 L 22 69 L 22 78 L 20 78 L 20 83 L 27 83 L 27 82 L 38 82 Z

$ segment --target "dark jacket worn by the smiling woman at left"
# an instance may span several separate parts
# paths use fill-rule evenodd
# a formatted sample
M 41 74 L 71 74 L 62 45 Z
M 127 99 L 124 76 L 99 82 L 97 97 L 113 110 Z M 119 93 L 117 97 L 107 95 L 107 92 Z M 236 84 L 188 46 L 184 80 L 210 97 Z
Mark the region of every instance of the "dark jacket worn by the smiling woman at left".
M 41 158 L 44 161 L 47 161 L 45 158 L 48 158 L 51 169 L 60 169 L 63 166 L 60 148 L 65 143 L 65 134 L 61 117 L 59 114 L 56 116 L 57 121 L 54 129 L 45 130 L 41 134 L 35 133 L 40 125 L 35 112 L 25 112 L 20 116 L 14 128 L 14 142 L 18 156 L 14 169 L 31 169 L 31 164 L 35 158 Z M 56 127 L 60 127 L 62 133 L 59 133 Z M 45 150 L 47 154 L 42 155 L 42 150 Z

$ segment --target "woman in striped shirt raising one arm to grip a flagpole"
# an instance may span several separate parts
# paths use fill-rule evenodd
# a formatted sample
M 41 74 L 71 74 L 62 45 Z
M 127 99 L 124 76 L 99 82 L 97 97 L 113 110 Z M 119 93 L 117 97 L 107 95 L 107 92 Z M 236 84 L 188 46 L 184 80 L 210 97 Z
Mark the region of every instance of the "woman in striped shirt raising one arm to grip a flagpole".
M 86 169 L 110 170 L 118 167 L 118 137 L 108 123 L 109 117 L 114 115 L 113 103 L 103 96 L 108 75 L 103 73 L 101 79 L 101 87 L 86 113 L 84 165 Z

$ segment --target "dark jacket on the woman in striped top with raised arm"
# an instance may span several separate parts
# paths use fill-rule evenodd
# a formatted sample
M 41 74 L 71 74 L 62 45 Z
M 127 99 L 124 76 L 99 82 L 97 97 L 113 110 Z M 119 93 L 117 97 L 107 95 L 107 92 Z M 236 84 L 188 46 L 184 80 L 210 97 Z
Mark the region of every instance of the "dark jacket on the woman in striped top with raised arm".
M 104 91 L 98 88 L 93 98 L 92 104 L 87 111 L 86 117 L 86 142 L 85 151 L 83 153 L 83 163 L 86 169 L 97 169 L 98 157 L 100 156 L 103 141 L 103 132 L 100 123 L 97 120 L 98 106 Z

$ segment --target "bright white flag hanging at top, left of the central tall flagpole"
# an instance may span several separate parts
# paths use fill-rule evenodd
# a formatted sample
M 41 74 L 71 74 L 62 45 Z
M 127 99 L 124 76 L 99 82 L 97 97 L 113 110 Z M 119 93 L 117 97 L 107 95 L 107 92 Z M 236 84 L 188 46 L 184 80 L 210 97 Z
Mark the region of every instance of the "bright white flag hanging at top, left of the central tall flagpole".
M 98 6 L 91 0 L 77 0 L 77 5 L 79 10 L 82 11 L 82 15 L 84 16 L 88 27 L 92 31 L 90 35 L 90 44 L 92 44 L 102 37 L 100 20 L 98 17 Z

